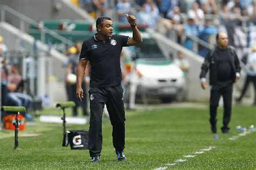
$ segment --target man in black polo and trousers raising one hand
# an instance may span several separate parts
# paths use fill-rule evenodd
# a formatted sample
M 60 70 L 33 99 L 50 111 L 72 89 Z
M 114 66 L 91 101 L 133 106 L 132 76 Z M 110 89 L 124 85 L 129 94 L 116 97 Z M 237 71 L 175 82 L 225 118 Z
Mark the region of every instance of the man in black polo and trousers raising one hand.
M 79 56 L 76 95 L 80 101 L 83 98 L 81 84 L 87 61 L 91 65 L 89 151 L 92 162 L 99 162 L 102 151 L 102 113 L 105 104 L 113 126 L 112 138 L 117 159 L 126 160 L 124 154 L 125 112 L 123 88 L 120 84 L 122 81 L 120 54 L 123 47 L 142 42 L 142 36 L 136 27 L 136 18 L 130 15 L 126 15 L 126 17 L 131 25 L 132 37 L 113 35 L 111 18 L 99 17 L 96 21 L 97 33 L 83 42 Z

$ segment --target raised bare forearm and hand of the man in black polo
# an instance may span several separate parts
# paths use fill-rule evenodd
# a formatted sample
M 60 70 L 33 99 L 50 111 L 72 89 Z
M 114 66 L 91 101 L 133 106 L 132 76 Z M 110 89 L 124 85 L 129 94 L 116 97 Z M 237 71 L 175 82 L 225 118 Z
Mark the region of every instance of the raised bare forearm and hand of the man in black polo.
M 129 46 L 137 45 L 142 43 L 142 35 L 140 34 L 137 26 L 136 26 L 136 18 L 134 16 L 130 16 L 126 14 L 126 18 L 128 23 L 132 27 L 132 37 L 129 41 Z

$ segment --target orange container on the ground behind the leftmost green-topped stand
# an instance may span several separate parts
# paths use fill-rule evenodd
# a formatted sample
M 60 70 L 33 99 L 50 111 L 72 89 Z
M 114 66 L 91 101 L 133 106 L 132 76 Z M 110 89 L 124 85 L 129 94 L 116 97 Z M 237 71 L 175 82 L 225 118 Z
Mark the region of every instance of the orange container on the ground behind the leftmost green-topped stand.
M 7 115 L 3 118 L 4 121 L 4 129 L 15 130 L 14 123 L 16 123 L 16 115 Z M 22 115 L 18 115 L 18 130 L 25 130 L 26 126 L 26 118 Z

